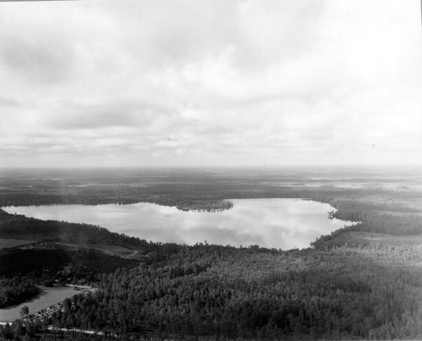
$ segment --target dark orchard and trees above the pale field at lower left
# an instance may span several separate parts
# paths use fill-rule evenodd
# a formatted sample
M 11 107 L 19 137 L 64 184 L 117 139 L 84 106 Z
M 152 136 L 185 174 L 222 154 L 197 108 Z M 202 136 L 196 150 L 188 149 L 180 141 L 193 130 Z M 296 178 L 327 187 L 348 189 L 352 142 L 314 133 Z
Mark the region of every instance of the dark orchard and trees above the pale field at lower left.
M 96 283 L 98 274 L 138 265 L 134 259 L 122 259 L 98 250 L 72 249 L 51 242 L 4 248 L 0 250 L 0 308 L 38 295 L 37 285 Z

